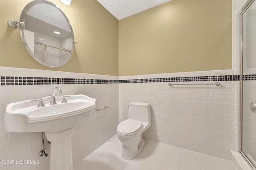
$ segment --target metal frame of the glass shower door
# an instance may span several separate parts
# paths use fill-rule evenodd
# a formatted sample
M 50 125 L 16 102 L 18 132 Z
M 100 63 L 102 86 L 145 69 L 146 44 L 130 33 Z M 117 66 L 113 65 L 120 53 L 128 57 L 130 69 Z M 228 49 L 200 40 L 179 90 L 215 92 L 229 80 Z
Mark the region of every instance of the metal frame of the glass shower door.
M 246 10 L 252 5 L 255 0 L 248 0 L 241 10 L 238 12 L 239 16 L 239 57 L 240 57 L 240 153 L 244 157 L 244 159 L 248 162 L 253 170 L 256 170 L 256 167 L 252 162 L 248 159 L 248 157 L 242 151 L 242 120 L 243 120 L 243 20 L 242 15 Z

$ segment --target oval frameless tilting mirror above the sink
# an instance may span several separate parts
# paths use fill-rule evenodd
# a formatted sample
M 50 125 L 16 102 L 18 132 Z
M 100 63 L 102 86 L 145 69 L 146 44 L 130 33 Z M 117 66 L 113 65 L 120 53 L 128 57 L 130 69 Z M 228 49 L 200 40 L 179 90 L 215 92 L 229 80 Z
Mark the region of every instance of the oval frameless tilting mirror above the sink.
M 66 15 L 52 2 L 34 0 L 20 16 L 20 35 L 30 55 L 42 65 L 60 67 L 74 51 L 74 33 Z

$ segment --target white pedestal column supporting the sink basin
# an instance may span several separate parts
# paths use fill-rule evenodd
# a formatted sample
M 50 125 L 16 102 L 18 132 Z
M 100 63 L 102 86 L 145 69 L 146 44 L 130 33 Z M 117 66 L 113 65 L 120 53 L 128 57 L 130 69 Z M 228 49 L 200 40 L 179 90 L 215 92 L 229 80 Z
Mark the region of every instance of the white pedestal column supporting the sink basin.
M 51 142 L 50 170 L 73 170 L 71 136 L 75 128 L 45 132 Z

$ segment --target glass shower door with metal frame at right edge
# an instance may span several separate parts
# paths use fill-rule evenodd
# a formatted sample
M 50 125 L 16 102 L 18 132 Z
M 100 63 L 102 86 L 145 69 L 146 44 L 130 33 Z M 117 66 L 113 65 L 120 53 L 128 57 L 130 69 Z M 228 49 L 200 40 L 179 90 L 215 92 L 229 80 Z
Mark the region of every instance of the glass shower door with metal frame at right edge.
M 241 147 L 240 152 L 256 169 L 256 1 L 240 11 Z

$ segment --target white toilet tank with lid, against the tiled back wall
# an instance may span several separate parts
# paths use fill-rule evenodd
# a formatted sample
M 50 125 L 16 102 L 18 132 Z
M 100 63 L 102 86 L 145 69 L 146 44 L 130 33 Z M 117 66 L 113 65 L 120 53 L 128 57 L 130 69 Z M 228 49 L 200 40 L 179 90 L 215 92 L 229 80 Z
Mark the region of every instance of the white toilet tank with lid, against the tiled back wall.
M 134 119 L 151 124 L 150 104 L 143 102 L 132 102 L 129 104 L 128 119 Z

